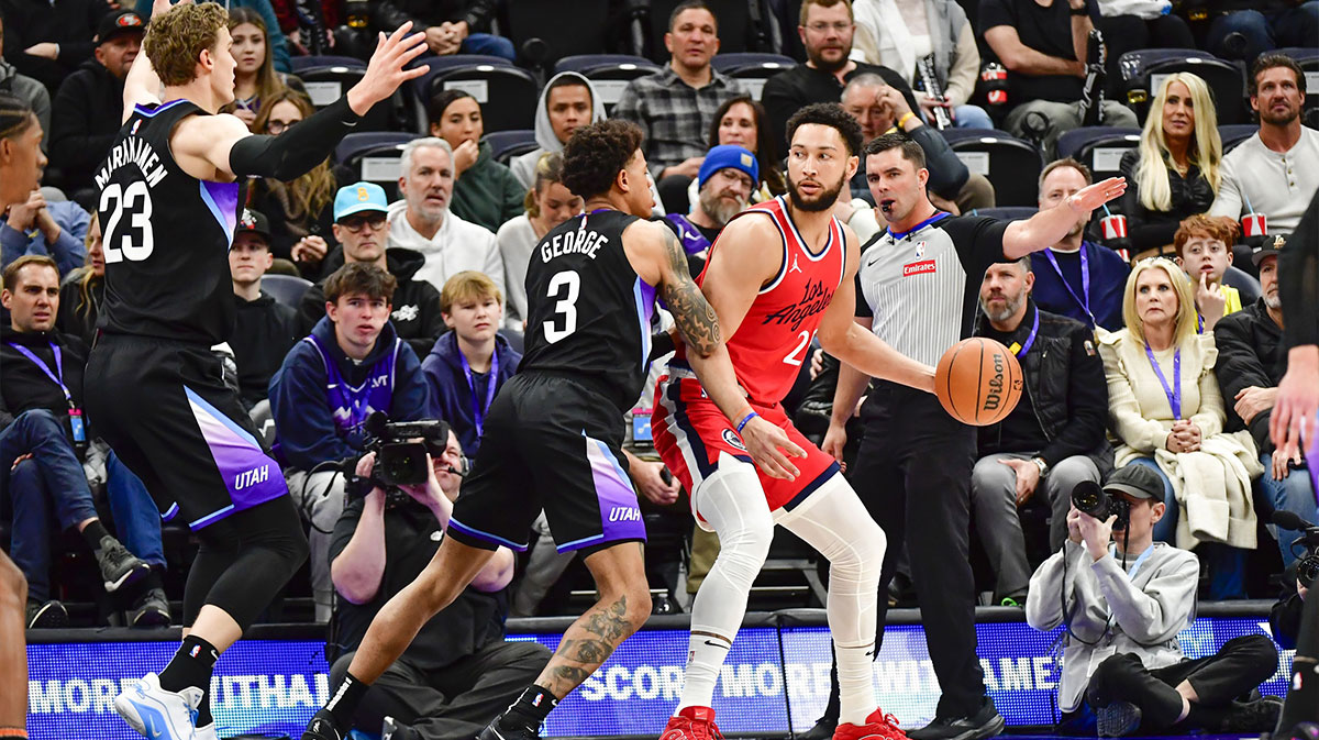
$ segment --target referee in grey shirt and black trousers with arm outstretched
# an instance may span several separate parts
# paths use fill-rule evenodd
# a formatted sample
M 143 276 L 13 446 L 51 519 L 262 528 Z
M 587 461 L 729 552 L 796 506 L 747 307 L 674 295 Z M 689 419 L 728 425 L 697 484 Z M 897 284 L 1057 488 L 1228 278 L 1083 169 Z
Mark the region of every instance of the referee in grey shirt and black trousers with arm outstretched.
M 971 336 L 977 292 L 989 265 L 1058 243 L 1078 219 L 1126 189 L 1121 178 L 1107 179 L 1022 222 L 952 216 L 930 204 L 930 174 L 915 141 L 886 133 L 863 154 L 871 194 L 889 227 L 861 251 L 856 321 L 930 365 Z M 847 417 L 868 381 L 843 365 L 823 445 L 838 459 L 847 441 Z M 889 537 L 876 654 L 884 637 L 884 594 L 906 541 L 926 644 L 943 689 L 934 722 L 907 735 L 913 740 L 992 737 L 1002 731 L 1004 720 L 985 695 L 976 658 L 975 584 L 967 554 L 975 430 L 944 413 L 934 396 L 892 383 L 877 384 L 861 421 L 865 437 L 851 480 Z

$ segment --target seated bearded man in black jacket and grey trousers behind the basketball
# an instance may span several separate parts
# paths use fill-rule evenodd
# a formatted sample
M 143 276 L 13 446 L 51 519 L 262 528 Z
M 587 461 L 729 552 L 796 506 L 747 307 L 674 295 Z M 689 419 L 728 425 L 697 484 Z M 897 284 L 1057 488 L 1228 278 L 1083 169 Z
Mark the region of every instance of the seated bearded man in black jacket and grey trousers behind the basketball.
M 976 334 L 1001 342 L 1021 361 L 1025 389 L 1001 422 L 979 429 L 971 474 L 976 532 L 997 576 L 995 603 L 1025 605 L 1030 565 L 1017 509 L 1037 492 L 1053 510 L 1049 546 L 1067 540 L 1071 493 L 1112 470 L 1104 438 L 1104 363 L 1086 324 L 1039 310 L 1030 299 L 1030 259 L 998 262 L 980 285 Z M 987 322 L 984 319 L 988 319 Z

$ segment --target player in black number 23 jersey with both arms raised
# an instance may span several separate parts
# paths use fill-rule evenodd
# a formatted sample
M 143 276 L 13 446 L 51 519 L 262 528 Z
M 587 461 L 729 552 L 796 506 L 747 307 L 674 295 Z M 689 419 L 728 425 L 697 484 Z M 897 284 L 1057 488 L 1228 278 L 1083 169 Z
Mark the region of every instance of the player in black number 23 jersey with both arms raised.
M 306 559 L 280 466 L 210 347 L 233 331 L 228 247 L 248 177 L 293 179 L 324 161 L 373 104 L 425 69 L 404 25 L 380 36 L 363 80 L 284 136 L 232 115 L 235 61 L 223 5 L 157 0 L 124 86 L 124 127 L 95 175 L 106 302 L 87 364 L 87 414 L 165 518 L 200 540 L 183 594 L 185 638 L 115 710 L 160 740 L 215 737 L 206 693 L 233 644 Z M 164 87 L 164 95 L 157 98 Z

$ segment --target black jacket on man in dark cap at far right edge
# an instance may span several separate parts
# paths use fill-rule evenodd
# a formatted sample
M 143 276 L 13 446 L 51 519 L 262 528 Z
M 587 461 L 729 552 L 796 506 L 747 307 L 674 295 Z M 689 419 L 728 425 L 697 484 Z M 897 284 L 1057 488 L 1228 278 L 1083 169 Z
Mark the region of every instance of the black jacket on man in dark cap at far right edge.
M 1250 430 L 1260 452 L 1273 452 L 1269 439 L 1269 417 L 1273 412 L 1260 412 L 1249 425 L 1236 413 L 1236 394 L 1252 385 L 1275 388 L 1287 373 L 1287 348 L 1282 346 L 1282 327 L 1273 322 L 1264 298 L 1223 317 L 1213 324 L 1213 344 L 1219 348 L 1219 361 L 1213 373 L 1223 392 L 1223 406 L 1228 419 L 1227 431 Z

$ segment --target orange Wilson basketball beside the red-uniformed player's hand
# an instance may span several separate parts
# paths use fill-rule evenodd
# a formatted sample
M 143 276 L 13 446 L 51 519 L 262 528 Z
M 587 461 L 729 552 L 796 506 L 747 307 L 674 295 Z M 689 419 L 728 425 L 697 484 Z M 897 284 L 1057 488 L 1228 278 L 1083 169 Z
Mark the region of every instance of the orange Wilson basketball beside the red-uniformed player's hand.
M 972 336 L 939 357 L 934 394 L 948 416 L 971 426 L 998 423 L 1021 398 L 1021 365 L 1006 347 Z

